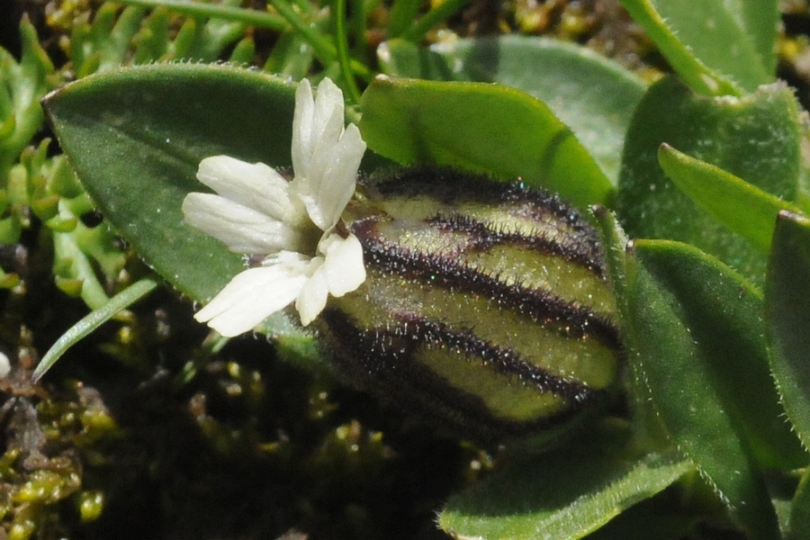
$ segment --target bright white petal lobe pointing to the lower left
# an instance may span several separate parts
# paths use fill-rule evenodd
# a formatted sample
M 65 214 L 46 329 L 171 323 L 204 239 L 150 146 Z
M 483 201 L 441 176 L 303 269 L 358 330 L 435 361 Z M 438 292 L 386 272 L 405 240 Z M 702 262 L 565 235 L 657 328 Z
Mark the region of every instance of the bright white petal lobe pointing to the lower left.
M 307 277 L 285 266 L 249 268 L 230 283 L 194 319 L 226 337 L 238 336 L 283 310 L 302 291 Z

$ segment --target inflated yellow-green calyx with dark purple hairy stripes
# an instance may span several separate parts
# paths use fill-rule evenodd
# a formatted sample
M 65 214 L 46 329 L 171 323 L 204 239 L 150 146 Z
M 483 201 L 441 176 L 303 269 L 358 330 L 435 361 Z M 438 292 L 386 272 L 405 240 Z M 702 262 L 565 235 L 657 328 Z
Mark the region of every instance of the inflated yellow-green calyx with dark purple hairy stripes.
M 367 279 L 329 302 L 338 365 L 384 401 L 471 437 L 559 425 L 617 379 L 595 230 L 554 196 L 446 169 L 364 186 L 344 214 Z

